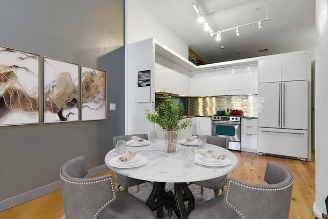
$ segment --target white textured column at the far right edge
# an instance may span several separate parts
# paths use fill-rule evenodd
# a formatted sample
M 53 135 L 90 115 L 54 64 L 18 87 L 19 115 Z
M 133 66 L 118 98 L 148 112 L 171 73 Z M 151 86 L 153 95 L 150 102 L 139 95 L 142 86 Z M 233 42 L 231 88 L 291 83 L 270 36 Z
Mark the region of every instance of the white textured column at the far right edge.
M 316 201 L 313 205 L 314 213 L 321 218 L 321 213 L 326 212 L 324 203 L 328 195 L 328 118 L 326 109 L 328 108 L 328 1 L 316 0 L 316 62 L 315 62 L 315 145 L 316 145 Z

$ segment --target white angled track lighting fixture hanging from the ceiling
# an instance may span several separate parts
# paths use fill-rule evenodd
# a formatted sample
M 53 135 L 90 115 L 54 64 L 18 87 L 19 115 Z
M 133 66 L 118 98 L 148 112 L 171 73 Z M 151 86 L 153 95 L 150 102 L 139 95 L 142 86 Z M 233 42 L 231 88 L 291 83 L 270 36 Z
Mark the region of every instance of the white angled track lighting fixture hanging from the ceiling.
M 195 5 L 195 4 L 192 4 L 192 6 L 194 7 L 195 11 L 197 12 L 197 15 L 198 15 L 198 21 L 200 23 L 203 23 L 204 24 L 204 29 L 206 31 L 209 31 L 210 33 L 210 36 L 213 36 L 214 34 L 216 34 L 216 40 L 219 41 L 221 39 L 221 33 L 222 32 L 227 32 L 227 31 L 230 31 L 230 30 L 236 30 L 236 35 L 239 36 L 240 35 L 240 32 L 239 32 L 239 28 L 240 27 L 245 27 L 245 26 L 249 26 L 249 25 L 252 25 L 252 24 L 257 24 L 258 25 L 258 29 L 262 29 L 262 22 L 265 22 L 265 21 L 269 21 L 272 19 L 271 18 L 268 18 L 268 0 L 266 1 L 267 2 L 267 18 L 265 19 L 262 19 L 260 21 L 257 21 L 257 22 L 252 22 L 252 23 L 249 23 L 249 24 L 244 24 L 244 25 L 239 25 L 237 27 L 232 27 L 232 28 L 229 28 L 229 29 L 225 29 L 225 30 L 220 30 L 220 31 L 216 31 L 214 32 L 210 26 L 209 26 L 209 23 L 207 23 L 205 21 L 205 19 L 203 18 L 202 14 L 200 13 L 200 11 L 198 10 L 198 7 Z M 197 2 L 197 5 L 198 5 L 198 2 Z M 211 13 L 211 15 L 213 15 L 214 12 Z

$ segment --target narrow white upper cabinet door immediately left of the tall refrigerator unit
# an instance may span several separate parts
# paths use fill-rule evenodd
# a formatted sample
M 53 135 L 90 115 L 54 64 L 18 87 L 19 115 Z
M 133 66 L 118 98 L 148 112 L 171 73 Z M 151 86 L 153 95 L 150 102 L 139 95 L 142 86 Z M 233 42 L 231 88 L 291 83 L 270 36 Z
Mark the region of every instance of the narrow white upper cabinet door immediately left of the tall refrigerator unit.
M 242 94 L 257 94 L 257 64 L 242 65 Z

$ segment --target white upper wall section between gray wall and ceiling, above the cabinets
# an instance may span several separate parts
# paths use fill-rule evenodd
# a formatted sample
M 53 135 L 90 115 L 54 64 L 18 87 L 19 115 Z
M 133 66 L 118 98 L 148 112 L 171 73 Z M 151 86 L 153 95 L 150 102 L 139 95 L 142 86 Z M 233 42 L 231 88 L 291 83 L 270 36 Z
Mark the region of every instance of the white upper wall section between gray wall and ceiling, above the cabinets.
M 188 59 L 188 44 L 136 0 L 126 0 L 127 44 L 154 38 Z

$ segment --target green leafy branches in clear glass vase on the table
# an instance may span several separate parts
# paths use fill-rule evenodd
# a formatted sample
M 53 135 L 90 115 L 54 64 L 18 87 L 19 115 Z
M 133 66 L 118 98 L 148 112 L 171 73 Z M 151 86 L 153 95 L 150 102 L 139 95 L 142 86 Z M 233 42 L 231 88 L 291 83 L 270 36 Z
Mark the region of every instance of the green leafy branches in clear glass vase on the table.
M 154 112 L 145 109 L 146 118 L 151 123 L 157 123 L 165 130 L 166 151 L 168 153 L 177 152 L 178 131 L 186 129 L 191 120 L 181 121 L 185 109 L 183 104 L 177 102 L 173 96 L 164 95 L 161 103 L 155 107 Z

